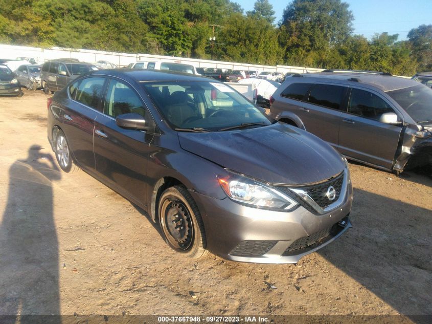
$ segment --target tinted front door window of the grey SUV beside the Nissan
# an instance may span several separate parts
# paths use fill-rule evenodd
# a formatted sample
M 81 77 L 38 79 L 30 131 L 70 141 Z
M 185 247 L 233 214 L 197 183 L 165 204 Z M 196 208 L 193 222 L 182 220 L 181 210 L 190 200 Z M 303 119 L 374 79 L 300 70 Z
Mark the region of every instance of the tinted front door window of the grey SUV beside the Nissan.
M 392 107 L 373 93 L 352 89 L 348 103 L 348 113 L 379 120 L 384 113 L 394 113 Z

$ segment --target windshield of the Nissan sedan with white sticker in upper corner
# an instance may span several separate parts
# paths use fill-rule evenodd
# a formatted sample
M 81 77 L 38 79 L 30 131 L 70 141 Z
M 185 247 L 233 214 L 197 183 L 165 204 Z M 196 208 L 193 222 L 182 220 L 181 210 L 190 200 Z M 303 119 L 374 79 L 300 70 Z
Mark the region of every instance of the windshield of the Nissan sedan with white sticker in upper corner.
M 271 124 L 257 107 L 220 82 L 155 82 L 144 88 L 172 128 L 214 132 L 246 123 Z

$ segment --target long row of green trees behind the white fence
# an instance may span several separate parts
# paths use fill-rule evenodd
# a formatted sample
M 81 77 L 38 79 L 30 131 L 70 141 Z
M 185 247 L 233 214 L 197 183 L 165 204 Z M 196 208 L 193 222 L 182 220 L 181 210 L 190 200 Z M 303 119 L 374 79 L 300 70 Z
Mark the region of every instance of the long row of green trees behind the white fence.
M 368 40 L 352 35 L 341 0 L 292 0 L 279 26 L 274 14 L 268 0 L 246 14 L 231 0 L 0 0 L 0 42 L 398 75 L 432 70 L 432 25 L 407 41 L 388 33 Z

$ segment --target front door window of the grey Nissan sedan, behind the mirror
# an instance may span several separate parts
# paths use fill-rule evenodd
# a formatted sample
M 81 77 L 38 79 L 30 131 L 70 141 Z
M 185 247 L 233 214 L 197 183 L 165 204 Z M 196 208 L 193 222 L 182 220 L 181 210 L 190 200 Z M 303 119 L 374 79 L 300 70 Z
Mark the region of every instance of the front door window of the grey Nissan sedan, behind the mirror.
M 111 117 L 129 113 L 144 116 L 145 109 L 138 95 L 128 85 L 117 80 L 111 80 L 109 81 L 103 112 Z

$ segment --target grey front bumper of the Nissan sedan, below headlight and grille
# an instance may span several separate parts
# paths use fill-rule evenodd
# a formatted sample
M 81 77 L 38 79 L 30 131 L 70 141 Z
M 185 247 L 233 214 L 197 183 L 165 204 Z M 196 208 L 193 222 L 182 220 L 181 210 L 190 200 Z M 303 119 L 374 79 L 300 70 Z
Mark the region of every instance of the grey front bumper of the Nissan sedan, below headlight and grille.
M 253 263 L 297 263 L 330 244 L 351 226 L 352 187 L 343 203 L 324 214 L 300 205 L 291 212 L 240 205 L 191 191 L 206 229 L 207 249 L 227 260 Z

